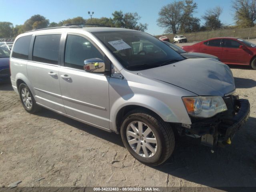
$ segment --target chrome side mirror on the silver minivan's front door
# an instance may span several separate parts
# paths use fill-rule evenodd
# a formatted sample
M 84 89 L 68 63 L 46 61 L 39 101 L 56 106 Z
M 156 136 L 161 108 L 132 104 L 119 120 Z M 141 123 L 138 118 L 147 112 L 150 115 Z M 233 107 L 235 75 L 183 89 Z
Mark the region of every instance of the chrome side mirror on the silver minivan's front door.
M 105 63 L 99 58 L 91 58 L 84 60 L 84 70 L 92 73 L 104 73 Z

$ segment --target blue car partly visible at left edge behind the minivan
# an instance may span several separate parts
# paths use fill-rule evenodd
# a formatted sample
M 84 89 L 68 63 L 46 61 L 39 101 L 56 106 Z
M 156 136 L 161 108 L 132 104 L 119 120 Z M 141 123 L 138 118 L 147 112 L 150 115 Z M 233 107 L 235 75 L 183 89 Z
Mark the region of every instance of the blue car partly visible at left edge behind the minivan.
M 10 51 L 0 47 L 0 82 L 10 81 Z

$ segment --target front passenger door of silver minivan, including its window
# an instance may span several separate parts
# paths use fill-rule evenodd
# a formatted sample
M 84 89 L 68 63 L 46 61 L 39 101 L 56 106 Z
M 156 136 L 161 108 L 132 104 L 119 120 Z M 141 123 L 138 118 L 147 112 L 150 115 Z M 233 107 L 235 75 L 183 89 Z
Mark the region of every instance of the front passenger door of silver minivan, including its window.
M 109 77 L 86 72 L 84 60 L 103 54 L 84 36 L 68 34 L 64 66 L 60 67 L 60 89 L 66 114 L 103 128 L 109 128 Z

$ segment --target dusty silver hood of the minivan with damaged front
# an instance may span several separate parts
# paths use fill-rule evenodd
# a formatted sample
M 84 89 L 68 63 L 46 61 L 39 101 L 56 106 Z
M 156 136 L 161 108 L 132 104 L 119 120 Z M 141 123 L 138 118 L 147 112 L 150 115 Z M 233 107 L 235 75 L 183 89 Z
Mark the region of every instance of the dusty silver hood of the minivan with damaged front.
M 201 96 L 224 96 L 235 89 L 230 68 L 212 58 L 186 59 L 140 71 L 142 76 L 160 80 Z

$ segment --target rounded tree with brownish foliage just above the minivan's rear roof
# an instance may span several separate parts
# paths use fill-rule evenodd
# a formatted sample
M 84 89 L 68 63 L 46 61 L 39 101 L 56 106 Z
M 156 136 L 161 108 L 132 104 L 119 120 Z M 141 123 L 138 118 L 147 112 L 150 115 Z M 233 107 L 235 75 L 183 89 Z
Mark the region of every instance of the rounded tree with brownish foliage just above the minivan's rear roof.
M 42 15 L 33 15 L 24 22 L 24 30 L 29 31 L 34 28 L 46 28 L 49 24 L 49 20 Z

